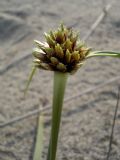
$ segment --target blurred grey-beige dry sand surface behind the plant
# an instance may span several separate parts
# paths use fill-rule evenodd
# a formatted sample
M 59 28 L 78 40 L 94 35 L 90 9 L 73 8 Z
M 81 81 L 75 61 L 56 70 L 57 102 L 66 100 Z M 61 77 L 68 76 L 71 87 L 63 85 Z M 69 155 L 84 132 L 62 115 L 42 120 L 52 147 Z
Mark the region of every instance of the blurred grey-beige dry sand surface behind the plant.
M 0 0 L 0 125 L 51 104 L 53 73 L 39 71 L 26 98 L 26 80 L 32 67 L 33 40 L 63 21 L 80 31 L 81 38 L 112 0 Z M 120 1 L 87 40 L 96 49 L 120 51 Z M 29 54 L 29 55 L 28 55 Z M 22 56 L 26 57 L 17 61 Z M 16 62 L 16 63 L 14 63 Z M 120 76 L 120 59 L 102 57 L 87 61 L 69 77 L 65 98 Z M 64 104 L 58 160 L 105 160 L 116 106 L 120 77 Z M 51 107 L 45 112 L 43 159 L 47 152 Z M 0 160 L 32 160 L 36 116 L 0 127 Z M 120 108 L 110 160 L 120 160 Z

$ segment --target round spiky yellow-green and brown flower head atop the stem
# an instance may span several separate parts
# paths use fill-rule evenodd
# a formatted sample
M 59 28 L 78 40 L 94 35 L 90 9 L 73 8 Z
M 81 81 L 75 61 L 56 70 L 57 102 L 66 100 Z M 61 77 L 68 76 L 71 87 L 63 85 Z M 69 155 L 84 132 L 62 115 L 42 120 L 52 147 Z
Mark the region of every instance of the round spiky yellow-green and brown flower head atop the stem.
M 57 31 L 45 33 L 45 39 L 45 43 L 35 40 L 33 51 L 35 66 L 45 70 L 73 73 L 91 50 L 78 39 L 77 33 L 63 24 Z

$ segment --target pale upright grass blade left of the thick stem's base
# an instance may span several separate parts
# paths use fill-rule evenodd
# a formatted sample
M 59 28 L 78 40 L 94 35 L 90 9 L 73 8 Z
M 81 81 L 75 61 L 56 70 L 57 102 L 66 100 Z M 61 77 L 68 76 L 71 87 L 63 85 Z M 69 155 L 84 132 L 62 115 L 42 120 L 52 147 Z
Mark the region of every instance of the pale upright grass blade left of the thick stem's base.
M 37 128 L 37 137 L 35 144 L 35 151 L 33 160 L 41 160 L 42 149 L 43 149 L 43 116 L 39 115 L 38 117 L 38 128 Z

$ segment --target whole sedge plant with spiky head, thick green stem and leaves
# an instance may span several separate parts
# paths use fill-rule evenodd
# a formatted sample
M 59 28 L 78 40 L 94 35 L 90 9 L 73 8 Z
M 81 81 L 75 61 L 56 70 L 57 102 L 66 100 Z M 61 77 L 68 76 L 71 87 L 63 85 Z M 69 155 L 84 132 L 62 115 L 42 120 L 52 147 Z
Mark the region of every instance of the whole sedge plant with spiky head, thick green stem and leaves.
M 45 33 L 45 42 L 35 40 L 33 50 L 33 70 L 31 72 L 26 90 L 32 80 L 36 69 L 54 71 L 53 105 L 51 133 L 46 160 L 56 160 L 57 143 L 60 130 L 61 113 L 67 79 L 82 67 L 84 62 L 92 57 L 110 56 L 120 58 L 120 53 L 115 51 L 92 51 L 79 39 L 78 33 L 63 24 L 55 31 Z M 38 127 L 38 129 L 41 129 Z M 42 129 L 41 129 L 42 130 Z M 39 133 L 39 135 L 41 135 Z M 40 160 L 41 142 L 35 148 L 34 160 Z

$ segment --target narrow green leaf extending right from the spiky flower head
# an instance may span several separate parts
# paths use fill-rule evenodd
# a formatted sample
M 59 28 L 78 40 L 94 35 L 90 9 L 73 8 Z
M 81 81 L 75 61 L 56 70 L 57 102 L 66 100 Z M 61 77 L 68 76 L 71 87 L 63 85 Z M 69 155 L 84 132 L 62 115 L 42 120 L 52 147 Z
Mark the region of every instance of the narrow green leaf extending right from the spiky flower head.
M 97 57 L 97 56 L 109 56 L 109 57 L 118 57 L 120 58 L 120 52 L 115 51 L 94 51 L 88 54 L 87 58 Z

